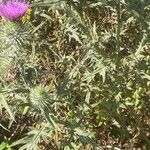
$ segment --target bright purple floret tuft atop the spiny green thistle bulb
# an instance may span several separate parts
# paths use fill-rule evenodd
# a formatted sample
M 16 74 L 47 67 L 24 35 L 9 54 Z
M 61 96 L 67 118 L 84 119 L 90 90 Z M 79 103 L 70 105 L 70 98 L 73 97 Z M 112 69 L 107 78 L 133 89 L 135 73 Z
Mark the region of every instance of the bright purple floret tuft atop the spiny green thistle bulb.
M 30 7 L 28 0 L 0 0 L 0 16 L 8 20 L 20 20 Z

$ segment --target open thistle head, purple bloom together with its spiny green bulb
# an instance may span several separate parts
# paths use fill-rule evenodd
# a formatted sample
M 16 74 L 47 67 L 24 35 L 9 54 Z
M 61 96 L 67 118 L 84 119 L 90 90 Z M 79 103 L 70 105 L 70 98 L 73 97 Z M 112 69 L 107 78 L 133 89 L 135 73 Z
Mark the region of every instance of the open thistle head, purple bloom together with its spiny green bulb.
M 21 18 L 27 13 L 30 4 L 27 0 L 2 0 L 0 2 L 1 47 L 15 45 L 25 41 L 27 37 L 27 25 L 21 22 Z

